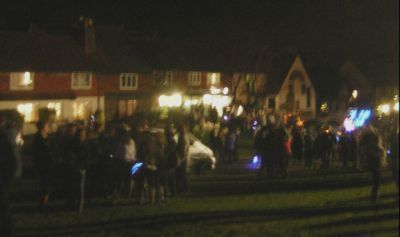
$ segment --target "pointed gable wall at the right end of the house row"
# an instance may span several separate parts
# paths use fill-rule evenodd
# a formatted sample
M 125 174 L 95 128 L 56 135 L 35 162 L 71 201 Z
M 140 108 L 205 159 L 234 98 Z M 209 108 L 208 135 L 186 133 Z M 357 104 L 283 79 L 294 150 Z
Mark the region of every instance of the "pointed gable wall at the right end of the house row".
M 291 80 L 292 73 L 296 71 L 300 72 L 302 79 L 294 78 Z M 305 85 L 306 91 L 305 93 L 302 92 L 302 85 Z M 290 111 L 287 108 L 288 101 L 287 95 L 289 93 L 289 85 L 293 86 L 293 111 Z M 310 96 L 311 96 L 311 103 L 310 106 L 307 106 L 307 88 L 310 88 Z M 293 113 L 300 113 L 305 114 L 307 116 L 315 116 L 316 114 L 316 92 L 314 86 L 308 76 L 306 69 L 303 66 L 303 63 L 300 57 L 296 57 L 294 63 L 292 64 L 290 70 L 288 71 L 286 78 L 279 90 L 275 98 L 276 108 L 283 111 L 283 112 L 293 112 Z M 298 106 L 297 106 L 298 103 Z

